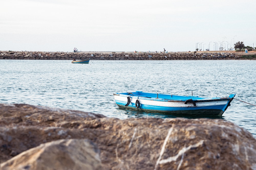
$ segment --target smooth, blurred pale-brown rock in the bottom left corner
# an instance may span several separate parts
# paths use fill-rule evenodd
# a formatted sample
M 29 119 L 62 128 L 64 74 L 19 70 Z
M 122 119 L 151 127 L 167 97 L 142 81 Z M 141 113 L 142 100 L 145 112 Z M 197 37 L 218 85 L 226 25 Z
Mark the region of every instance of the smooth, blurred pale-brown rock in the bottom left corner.
M 1 164 L 8 169 L 92 169 L 101 170 L 97 146 L 85 139 L 60 139 L 43 143 Z

